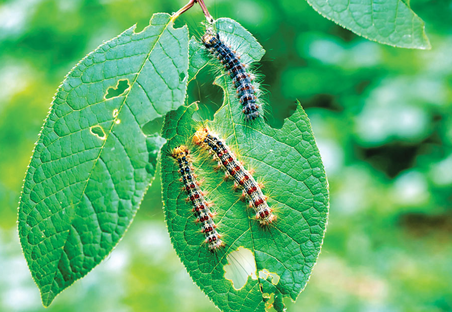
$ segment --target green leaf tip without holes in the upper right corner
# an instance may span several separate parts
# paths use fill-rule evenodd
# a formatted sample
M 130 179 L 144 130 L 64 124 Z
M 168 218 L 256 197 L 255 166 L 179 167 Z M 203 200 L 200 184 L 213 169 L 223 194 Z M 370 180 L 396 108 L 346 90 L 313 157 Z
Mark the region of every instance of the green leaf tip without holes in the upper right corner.
M 369 40 L 430 49 L 424 21 L 402 0 L 306 0 L 315 11 Z

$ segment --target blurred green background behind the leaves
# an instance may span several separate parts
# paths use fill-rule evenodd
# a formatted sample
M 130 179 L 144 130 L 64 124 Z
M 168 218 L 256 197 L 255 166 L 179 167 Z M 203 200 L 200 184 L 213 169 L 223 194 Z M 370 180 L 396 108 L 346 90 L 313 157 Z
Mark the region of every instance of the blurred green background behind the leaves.
M 452 3 L 412 0 L 432 50 L 367 41 L 303 0 L 206 0 L 267 50 L 278 127 L 298 98 L 331 191 L 328 229 L 311 281 L 289 311 L 452 311 Z M 33 144 L 66 73 L 85 54 L 181 0 L 0 0 L 0 311 L 43 311 L 16 232 Z M 194 7 L 177 25 L 200 34 Z M 206 79 L 208 82 L 203 82 Z M 218 108 L 208 72 L 189 86 Z M 124 240 L 53 311 L 215 311 L 166 232 L 157 177 Z

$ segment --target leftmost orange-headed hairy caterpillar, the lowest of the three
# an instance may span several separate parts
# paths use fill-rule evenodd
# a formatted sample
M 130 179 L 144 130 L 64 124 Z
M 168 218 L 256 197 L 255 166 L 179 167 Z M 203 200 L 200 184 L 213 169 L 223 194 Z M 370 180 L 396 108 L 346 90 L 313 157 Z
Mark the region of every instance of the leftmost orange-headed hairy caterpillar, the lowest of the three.
M 201 223 L 201 232 L 205 236 L 204 241 L 208 244 L 210 252 L 213 253 L 224 246 L 224 243 L 212 219 L 213 213 L 209 209 L 212 204 L 204 198 L 204 193 L 199 187 L 200 183 L 196 180 L 196 175 L 193 172 L 190 151 L 185 145 L 180 145 L 173 149 L 172 157 L 179 165 L 180 181 L 184 184 L 184 190 L 188 194 L 186 201 L 192 203 L 192 211 L 197 218 L 196 221 Z

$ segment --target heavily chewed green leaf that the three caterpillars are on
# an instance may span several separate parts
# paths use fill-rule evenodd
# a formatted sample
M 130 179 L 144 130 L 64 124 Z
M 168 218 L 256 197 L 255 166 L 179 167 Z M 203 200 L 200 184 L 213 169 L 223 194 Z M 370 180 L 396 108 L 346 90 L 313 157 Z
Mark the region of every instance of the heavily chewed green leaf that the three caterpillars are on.
M 231 20 L 223 22 L 216 26 L 231 31 L 228 41 L 233 46 L 244 40 L 252 45 L 246 50 L 259 50 L 244 28 Z M 222 311 L 263 312 L 270 297 L 273 306 L 283 310 L 283 296 L 295 300 L 304 289 L 323 241 L 328 185 L 320 154 L 300 105 L 281 129 L 263 121 L 245 122 L 231 79 L 222 75 L 216 83 L 224 90 L 224 102 L 212 122 L 194 121 L 199 119 L 196 103 L 165 117 L 161 177 L 168 232 L 194 282 Z M 245 167 L 255 169 L 254 177 L 263 182 L 268 203 L 275 207 L 274 225 L 261 228 L 240 192 L 233 190 L 233 182 L 224 181 L 224 173 L 213 170 L 211 158 L 191 143 L 202 126 L 219 133 Z M 181 144 L 189 146 L 198 180 L 205 180 L 201 188 L 215 203 L 214 221 L 225 242 L 215 254 L 202 243 L 204 235 L 181 191 L 178 166 L 167 155 Z

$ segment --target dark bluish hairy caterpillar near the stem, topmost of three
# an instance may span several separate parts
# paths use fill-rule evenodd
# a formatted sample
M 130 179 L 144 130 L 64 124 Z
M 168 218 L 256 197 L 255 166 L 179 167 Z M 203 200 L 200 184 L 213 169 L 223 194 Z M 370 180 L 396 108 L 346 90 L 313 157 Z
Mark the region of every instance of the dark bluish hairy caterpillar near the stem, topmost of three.
M 215 33 L 212 28 L 207 28 L 206 33 L 202 36 L 202 42 L 228 71 L 242 104 L 242 113 L 245 114 L 245 120 L 258 118 L 260 106 L 257 103 L 256 88 L 252 84 L 253 76 L 248 73 L 246 66 L 240 62 L 240 56 L 221 41 L 219 34 Z

